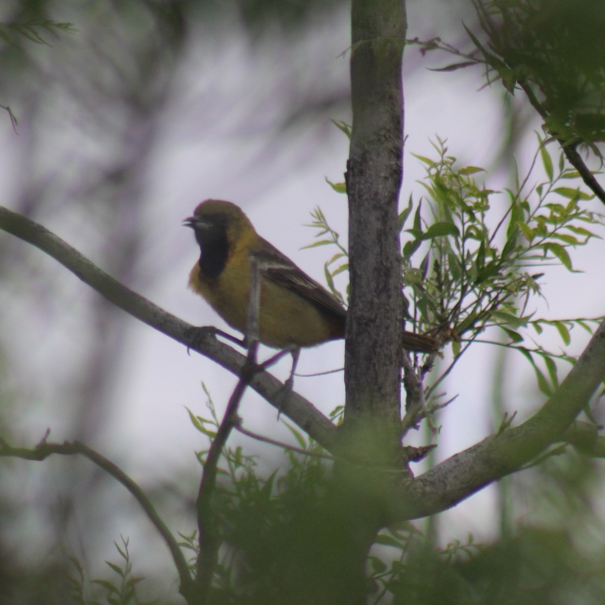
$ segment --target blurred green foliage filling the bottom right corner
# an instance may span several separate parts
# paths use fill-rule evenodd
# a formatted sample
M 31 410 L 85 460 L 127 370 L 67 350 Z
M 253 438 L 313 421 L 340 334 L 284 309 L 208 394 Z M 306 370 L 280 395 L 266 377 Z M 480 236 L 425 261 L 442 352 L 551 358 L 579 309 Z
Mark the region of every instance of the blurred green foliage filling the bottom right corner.
M 514 535 L 473 535 L 439 548 L 409 523 L 379 534 L 370 556 L 371 603 L 552 605 L 603 600 L 603 521 L 595 510 L 599 465 L 550 458 L 519 477 L 523 523 Z M 523 504 L 521 504 L 523 501 Z M 387 547 L 387 548 L 385 548 Z

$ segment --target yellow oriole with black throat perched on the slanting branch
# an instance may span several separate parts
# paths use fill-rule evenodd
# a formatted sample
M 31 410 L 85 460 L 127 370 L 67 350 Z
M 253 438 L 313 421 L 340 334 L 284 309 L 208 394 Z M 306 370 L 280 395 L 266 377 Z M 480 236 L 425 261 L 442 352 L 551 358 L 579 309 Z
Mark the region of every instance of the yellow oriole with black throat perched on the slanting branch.
M 338 298 L 260 237 L 241 208 L 229 201 L 206 200 L 185 225 L 194 230 L 201 250 L 189 287 L 231 327 L 247 335 L 250 261 L 255 258 L 261 267 L 260 342 L 298 349 L 344 338 L 347 312 Z M 434 353 L 439 342 L 402 330 L 402 346 Z

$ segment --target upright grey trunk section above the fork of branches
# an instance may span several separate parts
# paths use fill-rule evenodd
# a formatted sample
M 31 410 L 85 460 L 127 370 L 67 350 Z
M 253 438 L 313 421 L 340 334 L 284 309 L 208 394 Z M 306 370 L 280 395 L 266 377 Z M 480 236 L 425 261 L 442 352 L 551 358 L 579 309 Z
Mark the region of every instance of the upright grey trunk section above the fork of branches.
M 345 425 L 399 442 L 403 0 L 353 0 L 353 131 L 347 163 L 351 299 L 345 349 Z M 368 438 L 370 436 L 368 435 Z M 376 437 L 376 435 L 374 435 Z

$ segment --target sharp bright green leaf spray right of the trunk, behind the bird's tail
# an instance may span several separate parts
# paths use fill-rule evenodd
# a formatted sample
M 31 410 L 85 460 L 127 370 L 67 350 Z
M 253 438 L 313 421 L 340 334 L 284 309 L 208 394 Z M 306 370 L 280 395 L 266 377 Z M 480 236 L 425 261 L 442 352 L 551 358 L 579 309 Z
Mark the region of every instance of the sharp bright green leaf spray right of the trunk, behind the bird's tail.
M 417 156 L 427 171 L 421 183 L 426 195 L 417 204 L 410 198 L 400 217 L 410 236 L 402 253 L 408 317 L 445 327 L 454 353 L 463 339 L 477 339 L 488 327 L 504 330 L 511 347 L 524 341 L 520 329 L 532 325 L 539 333 L 549 322 L 533 318 L 529 307 L 541 295 L 545 267 L 573 272 L 569 250 L 598 237 L 604 224 L 603 215 L 581 204 L 592 195 L 572 186 L 577 173 L 565 168 L 562 155 L 555 171 L 544 142 L 539 145 L 525 179 L 502 192 L 477 182 L 482 168 L 457 168 L 439 139 L 436 160 Z M 546 180 L 528 188 L 538 156 Z M 574 322 L 551 325 L 569 344 Z

